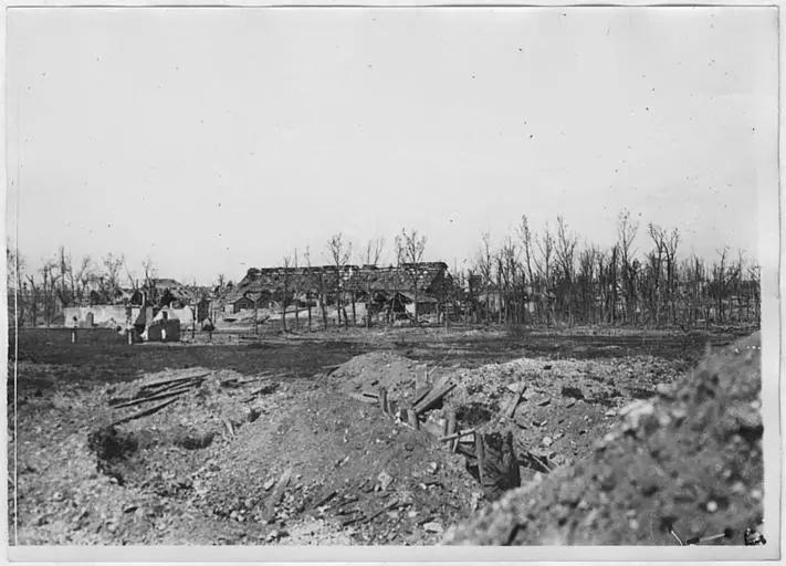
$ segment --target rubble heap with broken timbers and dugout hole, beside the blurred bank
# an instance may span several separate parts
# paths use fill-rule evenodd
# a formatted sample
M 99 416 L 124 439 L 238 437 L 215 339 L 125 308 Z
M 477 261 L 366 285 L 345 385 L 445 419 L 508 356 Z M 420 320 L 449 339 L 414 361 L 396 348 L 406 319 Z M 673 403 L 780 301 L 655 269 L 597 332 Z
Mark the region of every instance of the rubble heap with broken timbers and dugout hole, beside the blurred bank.
M 374 353 L 339 366 L 331 380 L 433 437 L 463 434 L 449 448 L 467 457 L 465 468 L 494 500 L 590 454 L 593 440 L 605 434 L 620 407 L 656 395 L 656 384 L 673 380 L 679 371 L 679 365 L 652 356 L 521 358 L 462 369 Z M 485 449 L 476 446 L 478 438 Z M 482 462 L 486 478 L 478 468 L 478 450 L 491 450 Z

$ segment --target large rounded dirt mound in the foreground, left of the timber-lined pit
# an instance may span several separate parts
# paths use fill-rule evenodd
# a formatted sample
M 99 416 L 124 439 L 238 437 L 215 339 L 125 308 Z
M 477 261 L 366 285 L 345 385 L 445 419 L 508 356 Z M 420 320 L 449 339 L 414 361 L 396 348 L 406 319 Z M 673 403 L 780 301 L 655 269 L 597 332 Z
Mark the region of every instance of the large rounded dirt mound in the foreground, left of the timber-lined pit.
M 272 409 L 272 410 L 271 410 Z M 250 541 L 422 544 L 480 497 L 463 459 L 340 392 L 300 390 L 193 476 L 195 504 Z M 293 539 L 290 539 L 293 538 Z

